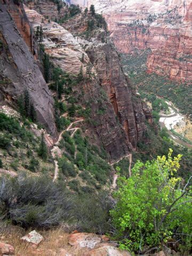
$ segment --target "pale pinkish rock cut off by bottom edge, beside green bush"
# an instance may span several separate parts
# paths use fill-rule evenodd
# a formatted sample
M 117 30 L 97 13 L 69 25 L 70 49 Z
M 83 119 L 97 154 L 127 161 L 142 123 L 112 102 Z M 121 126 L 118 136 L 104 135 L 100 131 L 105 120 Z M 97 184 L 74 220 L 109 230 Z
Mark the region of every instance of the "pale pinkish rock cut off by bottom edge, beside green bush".
M 131 253 L 127 251 L 119 250 L 111 245 L 99 247 L 97 249 L 85 252 L 84 256 L 131 256 Z

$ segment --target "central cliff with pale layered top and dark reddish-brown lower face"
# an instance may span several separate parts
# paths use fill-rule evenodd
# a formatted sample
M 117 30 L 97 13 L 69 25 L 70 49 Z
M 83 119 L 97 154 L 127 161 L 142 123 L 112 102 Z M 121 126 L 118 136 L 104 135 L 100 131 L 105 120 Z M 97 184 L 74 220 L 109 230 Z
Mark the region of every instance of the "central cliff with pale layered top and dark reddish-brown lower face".
M 105 29 L 97 28 L 85 37 L 90 15 L 77 14 L 60 26 L 46 19 L 42 23 L 42 14 L 28 7 L 26 13 L 34 28 L 42 25 L 45 51 L 55 65 L 75 75 L 81 67 L 83 69 L 86 78 L 73 90 L 81 93 L 82 106 L 87 102 L 91 104 L 91 122 L 85 134 L 97 134 L 96 140 L 102 142 L 111 159 L 128 154 L 143 139 L 146 117 L 140 100 L 126 81 L 118 54 Z M 87 79 L 88 70 L 91 79 Z

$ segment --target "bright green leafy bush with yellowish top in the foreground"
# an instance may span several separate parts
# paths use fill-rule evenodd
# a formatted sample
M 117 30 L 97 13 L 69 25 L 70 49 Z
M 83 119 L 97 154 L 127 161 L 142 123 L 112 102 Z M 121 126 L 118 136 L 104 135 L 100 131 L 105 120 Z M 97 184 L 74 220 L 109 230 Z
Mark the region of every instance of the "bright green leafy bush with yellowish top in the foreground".
M 122 249 L 141 251 L 143 245 L 158 247 L 170 238 L 190 246 L 192 197 L 189 186 L 181 189 L 181 179 L 175 175 L 181 155 L 171 155 L 172 149 L 167 158 L 138 161 L 129 179 L 118 179 L 111 216 Z

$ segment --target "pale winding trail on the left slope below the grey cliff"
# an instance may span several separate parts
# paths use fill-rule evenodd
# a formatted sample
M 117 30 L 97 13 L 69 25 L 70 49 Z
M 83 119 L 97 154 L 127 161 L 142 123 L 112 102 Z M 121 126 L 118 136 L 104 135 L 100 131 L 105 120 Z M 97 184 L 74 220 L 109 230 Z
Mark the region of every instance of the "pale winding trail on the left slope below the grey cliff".
M 62 116 L 67 116 L 68 113 L 65 113 L 63 114 Z M 61 116 L 61 117 L 62 117 Z M 66 132 L 66 131 L 73 131 L 73 133 L 70 135 L 70 137 L 72 138 L 75 134 L 75 132 L 79 129 L 79 127 L 74 127 L 74 128 L 71 128 L 74 124 L 78 123 L 78 122 L 83 122 L 83 118 L 76 118 L 77 120 L 72 122 L 71 124 L 69 124 L 69 126 L 67 127 L 67 129 L 63 130 L 62 132 L 60 132 L 59 134 L 59 138 L 58 140 L 54 143 L 53 145 L 53 148 L 51 149 L 51 155 L 53 158 L 55 158 L 55 151 L 59 150 L 59 147 L 58 147 L 58 144 L 60 142 L 60 140 L 62 139 L 62 134 L 63 132 Z M 55 180 L 57 180 L 58 178 L 58 173 L 59 173 L 59 165 L 58 165 L 58 161 L 57 160 L 54 160 L 54 177 L 53 177 L 53 182 Z

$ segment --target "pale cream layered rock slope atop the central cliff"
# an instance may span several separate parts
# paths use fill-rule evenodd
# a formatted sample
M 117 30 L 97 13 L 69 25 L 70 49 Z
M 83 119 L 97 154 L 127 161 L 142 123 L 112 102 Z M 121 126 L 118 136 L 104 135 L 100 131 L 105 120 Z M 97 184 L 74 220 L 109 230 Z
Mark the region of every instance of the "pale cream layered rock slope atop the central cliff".
M 25 11 L 34 29 L 42 25 L 45 51 L 50 54 L 53 63 L 70 74 L 78 74 L 81 66 L 85 72 L 84 66 L 86 66 L 89 58 L 73 35 L 57 22 L 48 22 L 42 14 L 29 9 L 27 6 L 25 6 Z M 83 53 L 84 63 L 80 60 Z

